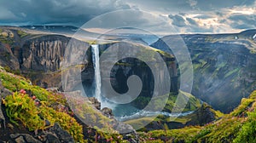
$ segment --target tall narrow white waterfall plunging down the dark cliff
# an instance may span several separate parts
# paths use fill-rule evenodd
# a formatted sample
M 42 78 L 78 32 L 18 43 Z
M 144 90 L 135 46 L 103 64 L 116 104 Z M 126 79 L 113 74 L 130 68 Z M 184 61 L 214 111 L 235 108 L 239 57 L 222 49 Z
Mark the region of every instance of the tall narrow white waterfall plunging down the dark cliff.
M 102 103 L 102 78 L 101 78 L 101 71 L 100 71 L 100 52 L 99 52 L 99 45 L 93 44 L 91 45 L 91 53 L 92 53 L 92 60 L 95 72 L 95 97 Z

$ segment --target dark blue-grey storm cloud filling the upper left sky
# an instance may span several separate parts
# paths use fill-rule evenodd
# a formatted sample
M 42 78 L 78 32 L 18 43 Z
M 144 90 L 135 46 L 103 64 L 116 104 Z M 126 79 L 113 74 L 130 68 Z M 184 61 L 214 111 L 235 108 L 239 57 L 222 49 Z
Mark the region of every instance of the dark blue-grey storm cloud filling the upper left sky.
M 31 24 L 50 24 L 50 23 L 73 23 L 81 25 L 87 20 L 109 11 L 118 9 L 130 9 L 130 6 L 119 0 L 1 0 L 0 9 L 12 15 L 7 20 L 1 16 L 1 23 L 9 22 Z M 1 10 L 0 10 L 1 12 Z

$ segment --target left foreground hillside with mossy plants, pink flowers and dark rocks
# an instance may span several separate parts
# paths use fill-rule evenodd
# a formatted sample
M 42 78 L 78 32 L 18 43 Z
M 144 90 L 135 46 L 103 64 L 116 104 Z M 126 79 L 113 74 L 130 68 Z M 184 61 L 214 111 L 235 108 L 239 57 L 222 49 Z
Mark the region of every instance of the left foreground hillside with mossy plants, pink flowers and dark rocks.
M 0 68 L 0 97 L 3 103 L 0 108 L 0 141 L 123 140 L 116 129 L 131 130 L 130 134 L 123 134 L 124 139 L 128 140 L 132 137 L 132 140 L 136 140 L 131 126 L 104 116 L 111 112 L 96 109 L 98 106 L 94 107 L 92 104 L 94 100 L 84 99 L 84 102 L 79 102 L 79 112 L 90 113 L 86 119 L 96 125 L 92 128 L 79 119 L 84 117 L 84 114 L 74 114 L 70 104 L 67 105 L 63 93 L 34 86 L 24 77 L 5 72 L 3 67 Z M 75 97 L 79 97 L 79 94 Z M 74 98 L 73 102 L 78 100 L 81 101 L 83 98 Z

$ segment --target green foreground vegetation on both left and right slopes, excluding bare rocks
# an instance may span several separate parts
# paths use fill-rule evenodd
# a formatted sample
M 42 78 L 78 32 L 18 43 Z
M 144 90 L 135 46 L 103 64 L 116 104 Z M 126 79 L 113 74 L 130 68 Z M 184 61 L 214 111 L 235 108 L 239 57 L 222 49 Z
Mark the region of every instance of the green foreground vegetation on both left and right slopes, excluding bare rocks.
M 34 86 L 26 78 L 5 72 L 2 67 L 0 80 L 4 88 L 14 93 L 2 99 L 7 116 L 13 124 L 22 123 L 26 129 L 35 131 L 48 129 L 54 123 L 59 123 L 61 128 L 67 130 L 77 142 L 129 141 L 117 134 L 108 122 L 104 122 L 108 120 L 111 122 L 108 117 L 94 112 L 95 109 L 87 103 L 80 105 L 79 108 L 90 112 L 90 120 L 98 120 L 102 129 L 108 130 L 111 134 L 96 131 L 79 122 L 67 106 L 64 94 Z M 215 112 L 215 115 L 219 117 L 217 120 L 203 126 L 189 126 L 183 129 L 166 127 L 161 130 L 138 132 L 139 138 L 141 142 L 253 142 L 256 140 L 256 90 L 249 98 L 243 98 L 241 105 L 230 114 Z

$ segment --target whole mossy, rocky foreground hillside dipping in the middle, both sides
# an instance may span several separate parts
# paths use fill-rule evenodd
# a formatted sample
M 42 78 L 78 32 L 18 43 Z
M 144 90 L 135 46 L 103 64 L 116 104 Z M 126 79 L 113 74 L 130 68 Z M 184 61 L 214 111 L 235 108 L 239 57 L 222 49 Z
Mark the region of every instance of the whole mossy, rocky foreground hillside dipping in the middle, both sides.
M 90 101 L 84 102 L 85 110 L 90 111 L 90 117 L 98 118 L 96 122 L 100 126 L 106 126 L 108 133 L 96 131 L 82 123 L 67 106 L 63 94 L 53 89 L 46 90 L 31 85 L 26 78 L 5 72 L 2 67 L 0 79 L 0 95 L 3 103 L 2 110 L 0 110 L 1 141 L 95 142 L 98 140 L 112 142 L 115 140 L 133 142 L 137 140 L 135 133 L 116 134 L 118 132 L 106 124 L 108 120 L 113 119 L 104 117 L 103 113 L 97 112 L 98 110 L 91 105 Z M 200 109 L 195 111 L 195 114 L 188 116 L 190 117 L 189 121 L 193 121 L 194 117 L 191 116 L 196 116 L 198 112 L 207 110 L 212 110 L 212 108 L 203 104 Z M 245 140 L 253 142 L 255 140 L 256 91 L 248 99 L 243 98 L 240 106 L 230 114 L 222 115 L 214 111 L 212 113 L 216 118 L 203 126 L 168 129 L 168 125 L 163 124 L 162 130 L 138 132 L 139 140 L 142 142 L 243 142 Z M 156 118 L 156 121 L 160 121 L 159 119 L 160 117 Z M 207 119 L 207 117 L 203 117 L 203 119 Z M 103 124 L 101 124 L 101 120 L 104 121 Z M 184 121 L 184 117 L 177 120 Z M 199 118 L 194 121 L 199 121 Z M 125 124 L 121 126 L 123 129 L 129 127 Z

